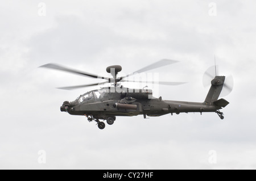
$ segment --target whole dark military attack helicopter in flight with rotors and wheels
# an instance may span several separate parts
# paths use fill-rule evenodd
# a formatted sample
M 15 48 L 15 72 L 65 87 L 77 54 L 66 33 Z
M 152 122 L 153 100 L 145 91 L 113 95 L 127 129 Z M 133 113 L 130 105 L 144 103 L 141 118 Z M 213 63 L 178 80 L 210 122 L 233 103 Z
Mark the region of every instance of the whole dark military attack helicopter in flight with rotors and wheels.
M 177 61 L 163 59 L 135 72 L 142 73 L 143 71 L 174 64 L 175 62 Z M 86 73 L 85 71 L 66 68 L 57 64 L 46 64 L 40 67 L 105 80 L 104 82 L 100 83 L 59 87 L 59 89 L 72 90 L 82 87 L 104 85 L 105 83 L 112 84 L 108 87 L 86 92 L 85 94 L 80 95 L 74 101 L 65 101 L 60 107 L 60 111 L 62 112 L 68 112 L 71 115 L 86 116 L 89 122 L 96 121 L 98 128 L 100 129 L 105 128 L 105 123 L 103 122 L 104 120 L 106 120 L 106 123 L 109 125 L 112 125 L 116 119 L 116 116 L 143 115 L 144 119 L 146 119 L 146 116 L 162 116 L 168 113 L 173 115 L 173 113 L 179 114 L 181 112 L 200 112 L 201 114 L 203 112 L 216 112 L 220 119 L 224 119 L 224 113 L 222 113 L 220 110 L 226 107 L 229 102 L 225 99 L 218 99 L 218 97 L 220 96 L 222 87 L 226 87 L 226 89 L 229 91 L 232 90 L 232 87 L 224 84 L 225 76 L 215 75 L 215 77 L 210 81 L 211 86 L 203 103 L 163 100 L 161 96 L 159 98 L 154 98 L 152 96 L 152 90 L 145 87 L 143 89 L 130 89 L 123 87 L 121 83 L 126 82 L 127 80 L 125 78 L 133 75 L 134 73 L 128 74 L 124 77 L 118 77 L 118 73 L 122 70 L 120 65 L 112 65 L 106 68 L 106 71 L 112 75 L 112 78 L 101 77 L 95 74 Z M 207 72 L 205 75 L 208 77 L 211 76 Z M 185 82 L 158 83 L 162 85 L 181 85 Z

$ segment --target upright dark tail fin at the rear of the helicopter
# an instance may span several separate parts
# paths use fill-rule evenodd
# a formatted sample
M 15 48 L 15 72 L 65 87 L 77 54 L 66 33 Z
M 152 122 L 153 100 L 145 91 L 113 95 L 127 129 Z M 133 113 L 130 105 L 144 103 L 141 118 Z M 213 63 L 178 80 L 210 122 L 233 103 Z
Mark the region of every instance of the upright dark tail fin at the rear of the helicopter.
M 207 94 L 207 97 L 204 101 L 205 104 L 211 105 L 214 101 L 218 99 L 220 96 L 222 87 L 224 86 L 225 76 L 215 76 L 212 80 L 212 86 L 210 86 L 210 90 Z

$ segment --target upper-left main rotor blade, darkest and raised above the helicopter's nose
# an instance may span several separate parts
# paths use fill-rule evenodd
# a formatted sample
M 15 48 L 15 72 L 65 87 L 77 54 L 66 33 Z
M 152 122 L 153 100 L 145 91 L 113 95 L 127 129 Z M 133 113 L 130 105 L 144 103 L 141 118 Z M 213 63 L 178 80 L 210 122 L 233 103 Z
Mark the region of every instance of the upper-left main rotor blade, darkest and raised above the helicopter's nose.
M 107 80 L 109 79 L 109 78 L 106 78 L 106 77 L 98 77 L 98 75 L 91 74 L 91 73 L 86 73 L 85 71 L 65 68 L 64 66 L 57 65 L 57 64 L 46 64 L 46 65 L 39 66 L 39 68 L 48 68 L 48 69 L 67 71 L 69 73 L 85 75 L 85 76 L 92 77 L 92 78 L 101 78 L 101 79 L 107 79 Z

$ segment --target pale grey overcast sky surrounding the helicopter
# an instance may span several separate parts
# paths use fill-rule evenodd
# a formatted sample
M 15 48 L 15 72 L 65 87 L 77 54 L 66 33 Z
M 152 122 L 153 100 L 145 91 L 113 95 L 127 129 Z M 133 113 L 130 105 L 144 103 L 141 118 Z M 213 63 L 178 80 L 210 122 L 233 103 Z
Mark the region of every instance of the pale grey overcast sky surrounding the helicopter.
M 256 169 L 255 6 L 253 0 L 1 1 L 0 169 Z M 203 75 L 214 54 L 218 74 L 234 79 L 224 120 L 216 113 L 139 115 L 117 117 L 104 130 L 60 112 L 65 100 L 99 87 L 55 89 L 97 80 L 38 68 L 54 62 L 107 76 L 109 65 L 128 74 L 169 58 L 179 62 L 150 73 L 188 83 L 155 86 L 153 94 L 203 102 L 209 89 Z

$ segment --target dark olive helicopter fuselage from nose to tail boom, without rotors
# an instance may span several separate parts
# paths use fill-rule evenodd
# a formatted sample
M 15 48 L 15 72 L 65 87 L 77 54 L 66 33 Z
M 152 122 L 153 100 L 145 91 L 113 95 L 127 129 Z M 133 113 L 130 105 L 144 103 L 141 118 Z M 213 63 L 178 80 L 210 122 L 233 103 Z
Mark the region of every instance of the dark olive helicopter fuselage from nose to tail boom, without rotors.
M 111 90 L 105 87 L 86 92 L 73 102 L 65 101 L 61 111 L 71 115 L 88 116 L 94 120 L 108 120 L 115 116 L 162 116 L 167 113 L 181 112 L 216 112 L 221 106 L 197 102 L 181 102 L 154 98 L 152 90 L 128 89 L 125 87 Z

